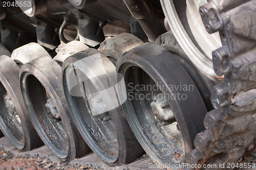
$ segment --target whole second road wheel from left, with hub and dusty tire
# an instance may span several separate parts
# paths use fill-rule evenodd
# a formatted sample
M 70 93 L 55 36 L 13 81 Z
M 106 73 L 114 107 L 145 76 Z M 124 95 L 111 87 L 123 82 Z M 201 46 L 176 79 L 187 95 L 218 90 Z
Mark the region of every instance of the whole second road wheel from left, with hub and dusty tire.
M 72 120 L 61 79 L 61 66 L 49 57 L 20 68 L 20 87 L 37 133 L 55 156 L 70 161 L 90 149 Z

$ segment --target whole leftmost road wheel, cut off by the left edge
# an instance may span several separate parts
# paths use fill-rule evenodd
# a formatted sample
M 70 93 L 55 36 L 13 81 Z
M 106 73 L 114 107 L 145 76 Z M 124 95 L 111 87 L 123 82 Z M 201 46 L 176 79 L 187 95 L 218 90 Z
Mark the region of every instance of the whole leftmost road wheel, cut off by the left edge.
M 29 151 L 42 145 L 27 114 L 19 87 L 19 67 L 8 56 L 0 57 L 0 127 L 12 145 Z

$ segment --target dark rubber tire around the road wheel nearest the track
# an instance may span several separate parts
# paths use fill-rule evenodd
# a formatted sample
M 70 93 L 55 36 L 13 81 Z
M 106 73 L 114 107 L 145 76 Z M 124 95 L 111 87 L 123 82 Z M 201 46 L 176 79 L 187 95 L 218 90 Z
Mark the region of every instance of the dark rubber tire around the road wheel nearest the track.
M 178 60 L 165 48 L 155 43 L 144 43 L 139 45 L 129 52 L 126 52 L 118 59 L 117 71 L 122 74 L 122 77 L 118 77 L 119 82 L 124 78 L 125 84 L 127 85 L 127 76 L 125 71 L 132 66 L 141 68 L 149 75 L 155 82 L 159 82 L 161 85 L 175 85 L 175 84 L 191 84 L 194 85 L 194 91 L 188 91 L 189 102 L 182 100 L 168 100 L 169 105 L 174 111 L 178 127 L 183 138 L 183 152 L 184 156 L 194 149 L 194 139 L 198 132 L 204 130 L 203 119 L 207 112 L 202 97 L 196 88 L 194 81 L 190 78 L 187 71 L 182 67 Z M 121 94 L 122 90 L 118 89 Z M 165 94 L 173 94 L 168 89 L 162 89 Z M 159 151 L 153 147 L 152 140 L 148 139 L 135 110 L 130 100 L 126 100 L 123 103 L 123 109 L 126 118 L 137 137 L 138 141 L 156 163 L 164 165 L 170 163 L 172 160 L 163 160 L 160 157 Z M 196 107 L 195 107 L 196 106 Z

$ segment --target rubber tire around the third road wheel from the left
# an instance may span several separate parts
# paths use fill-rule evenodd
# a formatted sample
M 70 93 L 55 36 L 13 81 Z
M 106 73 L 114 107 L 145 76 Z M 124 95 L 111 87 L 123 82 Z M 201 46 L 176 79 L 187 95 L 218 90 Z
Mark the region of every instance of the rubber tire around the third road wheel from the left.
M 115 126 L 115 130 L 117 133 L 118 145 L 119 145 L 119 147 L 118 147 L 119 155 L 117 157 L 117 160 L 115 160 L 115 161 L 108 159 L 108 157 L 106 157 L 102 154 L 102 150 L 99 148 L 97 143 L 94 141 L 92 134 L 90 133 L 88 128 L 82 122 L 81 116 L 79 115 L 80 113 L 78 113 L 77 109 L 75 107 L 73 107 L 71 95 L 69 94 L 69 89 L 67 87 L 66 69 L 68 66 L 73 66 L 75 68 L 79 68 L 80 70 L 82 70 L 82 68 L 84 67 L 84 64 L 82 63 L 84 61 L 84 59 L 86 59 L 88 56 L 93 56 L 93 55 L 101 56 L 102 63 L 104 65 L 104 68 L 106 71 L 106 76 L 108 77 L 108 80 L 110 83 L 110 87 L 112 87 L 113 84 L 116 84 L 115 83 L 116 82 L 115 66 L 106 56 L 104 56 L 102 53 L 95 50 L 94 48 L 88 48 L 86 50 L 78 52 L 75 55 L 67 58 L 62 65 L 62 76 L 63 76 L 63 86 L 65 89 L 65 94 L 66 94 L 66 98 L 67 98 L 70 110 L 72 112 L 72 116 L 73 116 L 75 123 L 76 123 L 80 133 L 82 134 L 84 140 L 87 141 L 87 143 L 88 143 L 89 147 L 92 149 L 92 151 L 97 156 L 99 156 L 103 161 L 105 161 L 107 164 L 109 164 L 111 166 L 118 166 L 118 165 L 123 165 L 125 163 L 130 163 L 130 162 L 134 161 L 135 159 L 137 159 L 138 157 L 142 156 L 144 151 L 141 148 L 140 144 L 138 143 L 137 139 L 135 138 L 132 130 L 130 129 L 130 126 L 127 123 L 127 120 L 125 118 L 125 115 L 123 113 L 121 106 L 109 111 L 110 116 L 111 116 L 114 126 Z M 80 67 L 75 64 L 78 61 L 81 61 L 79 63 Z M 85 73 L 83 72 L 83 74 L 85 74 Z M 98 82 L 98 84 L 100 84 L 100 83 Z

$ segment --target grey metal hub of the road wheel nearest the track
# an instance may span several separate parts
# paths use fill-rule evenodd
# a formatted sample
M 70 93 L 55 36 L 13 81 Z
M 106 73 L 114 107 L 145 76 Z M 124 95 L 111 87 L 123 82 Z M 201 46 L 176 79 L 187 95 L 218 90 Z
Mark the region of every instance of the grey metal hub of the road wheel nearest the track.
M 175 122 L 175 116 L 163 93 L 157 94 L 150 105 L 155 117 L 162 125 L 169 125 Z

